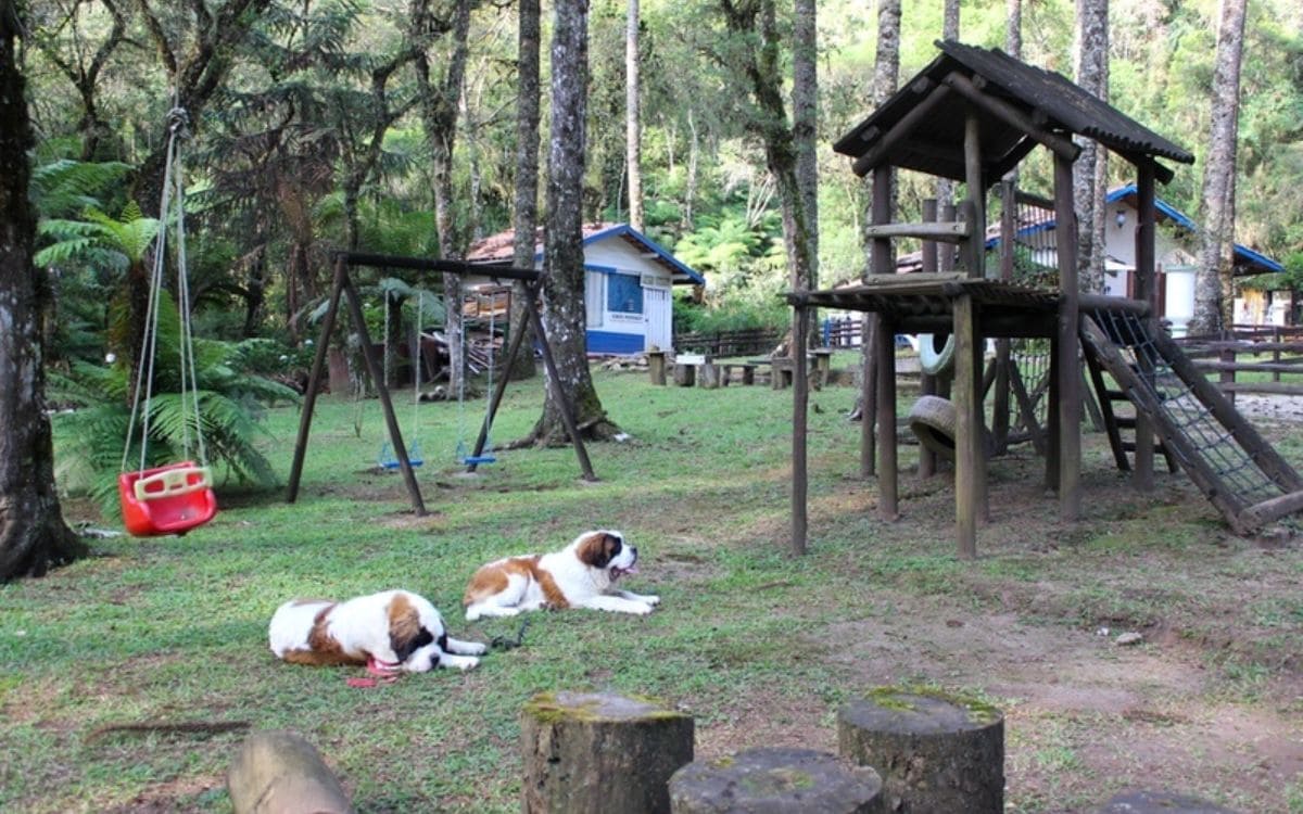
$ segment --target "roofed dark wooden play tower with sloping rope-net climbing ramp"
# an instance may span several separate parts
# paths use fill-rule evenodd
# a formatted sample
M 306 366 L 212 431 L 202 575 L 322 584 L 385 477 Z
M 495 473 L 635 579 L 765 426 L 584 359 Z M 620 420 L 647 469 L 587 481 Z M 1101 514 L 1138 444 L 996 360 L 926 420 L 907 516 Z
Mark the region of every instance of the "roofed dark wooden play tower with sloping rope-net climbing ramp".
M 1157 434 L 1160 448 L 1237 533 L 1303 509 L 1303 479 L 1207 382 L 1154 318 L 1154 184 L 1173 177 L 1160 159 L 1191 164 L 1194 156 L 1055 73 L 998 49 L 950 40 L 937 47 L 941 55 L 930 65 L 834 146 L 853 159 L 856 175 L 873 177 L 870 274 L 859 285 L 788 294 L 796 346 L 807 345 L 814 307 L 868 313 L 876 320 L 878 340 L 864 376 L 864 399 L 866 408 L 876 408 L 877 421 L 869 419 L 866 409 L 861 449 L 868 455 L 876 447 L 878 514 L 885 520 L 899 516 L 895 356 L 893 343 L 881 337 L 941 332 L 955 337 L 955 525 L 963 559 L 976 556 L 977 525 L 989 516 L 982 443 L 986 337 L 1050 341 L 1045 479 L 1058 492 L 1063 520 L 1076 520 L 1081 507 L 1083 354 L 1096 369 L 1096 387 L 1105 389 L 1100 371 L 1106 371 L 1119 388 L 1115 392 L 1135 406 L 1134 443 L 1122 440 L 1115 419 L 1110 423 L 1106 415 L 1105 423 L 1119 466 L 1132 469 L 1139 490 L 1153 486 Z M 1079 292 L 1072 164 L 1080 150 L 1074 135 L 1095 139 L 1135 167 L 1134 298 Z M 1053 154 L 1054 223 L 1068 227 L 1055 236 L 1057 290 L 1012 280 L 1016 227 L 1009 202 L 1016 191 L 1002 178 L 1037 146 Z M 959 202 L 959 218 L 890 223 L 890 178 L 898 168 L 963 181 L 968 194 Z M 999 229 L 1001 271 L 989 279 L 986 195 L 997 184 L 1005 185 L 1006 218 Z M 891 241 L 902 237 L 924 241 L 923 272 L 896 274 Z M 937 271 L 936 262 L 928 262 L 929 249 L 936 257 L 938 244 L 949 247 L 949 257 L 958 257 L 958 272 Z M 795 365 L 792 547 L 803 551 L 809 400 L 804 354 L 796 356 Z M 1102 402 L 1105 393 L 1100 395 Z

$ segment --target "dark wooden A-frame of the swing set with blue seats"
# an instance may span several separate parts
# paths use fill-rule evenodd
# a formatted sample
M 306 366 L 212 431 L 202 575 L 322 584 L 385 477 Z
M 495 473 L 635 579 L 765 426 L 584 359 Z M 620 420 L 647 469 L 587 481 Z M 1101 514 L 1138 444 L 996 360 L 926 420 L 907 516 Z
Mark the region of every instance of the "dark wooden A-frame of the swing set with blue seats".
M 298 422 L 298 438 L 294 442 L 294 462 L 289 469 L 289 487 L 285 496 L 287 503 L 294 503 L 298 499 L 298 483 L 304 471 L 304 456 L 308 453 L 308 436 L 311 430 L 313 408 L 317 404 L 317 392 L 321 389 L 322 374 L 326 367 L 326 350 L 330 346 L 331 333 L 335 331 L 335 316 L 339 313 L 340 298 L 345 298 L 348 302 L 349 316 L 353 320 L 353 330 L 357 331 L 358 336 L 362 339 L 362 361 L 366 365 L 367 375 L 371 378 L 371 384 L 379 395 L 380 406 L 384 410 L 384 425 L 390 434 L 390 448 L 392 451 L 394 460 L 397 464 L 399 471 L 403 473 L 403 482 L 407 484 L 408 495 L 412 499 L 412 509 L 418 516 L 423 516 L 426 513 L 425 500 L 421 498 L 421 487 L 417 486 L 416 482 L 416 473 L 412 466 L 413 461 L 409 458 L 407 444 L 403 442 L 403 432 L 399 430 L 399 421 L 394 413 L 394 401 L 390 397 L 388 386 L 386 384 L 384 376 L 380 371 L 380 361 L 375 357 L 375 348 L 371 344 L 370 333 L 366 330 L 366 319 L 362 315 L 362 300 L 358 297 L 357 287 L 353 285 L 352 276 L 349 275 L 349 268 L 354 266 L 369 266 L 375 268 L 410 268 L 421 272 L 440 275 L 455 274 L 476 275 L 481 277 L 487 276 L 495 281 L 523 281 L 526 289 L 526 302 L 525 307 L 521 309 L 521 324 L 515 326 L 515 330 L 511 331 L 511 340 L 507 346 L 507 357 L 503 362 L 503 369 L 509 369 L 516 358 L 516 354 L 520 353 L 521 340 L 525 336 L 525 331 L 523 330 L 524 320 L 529 319 L 534 327 L 538 346 L 542 352 L 543 365 L 547 367 L 547 383 L 552 387 L 552 397 L 556 399 L 556 405 L 562 414 L 562 422 L 566 425 L 566 431 L 569 434 L 575 445 L 575 456 L 579 458 L 582 477 L 585 481 L 597 479 L 597 475 L 593 474 L 593 465 L 588 458 L 588 451 L 584 448 L 584 440 L 580 438 L 579 427 L 575 422 L 573 405 L 571 405 L 569 397 L 560 387 L 560 378 L 556 374 L 556 363 L 552 358 L 552 350 L 547 344 L 547 332 L 543 330 L 543 320 L 538 311 L 538 294 L 542 287 L 541 271 L 490 263 L 431 260 L 426 258 L 366 254 L 361 251 L 339 251 L 335 254 L 334 260 L 335 279 L 331 287 L 330 302 L 327 305 L 326 314 L 322 318 L 321 339 L 317 343 L 317 354 L 313 358 L 313 369 L 308 378 L 308 391 L 304 395 L 304 412 Z M 503 393 L 507 389 L 507 378 L 508 376 L 506 375 L 500 376 L 494 386 L 493 396 L 489 401 L 489 409 L 485 413 L 483 423 L 480 427 L 480 436 L 476 439 L 474 452 L 465 458 L 468 471 L 474 471 L 478 462 L 485 460 L 485 444 L 489 440 L 489 431 L 493 427 L 493 419 L 498 413 L 498 406 L 502 404 Z

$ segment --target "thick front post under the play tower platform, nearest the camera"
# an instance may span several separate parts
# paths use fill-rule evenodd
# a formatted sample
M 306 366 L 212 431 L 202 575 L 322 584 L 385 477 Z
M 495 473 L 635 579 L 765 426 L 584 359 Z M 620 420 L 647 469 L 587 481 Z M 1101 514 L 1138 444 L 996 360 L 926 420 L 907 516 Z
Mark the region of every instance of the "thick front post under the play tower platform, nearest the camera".
M 981 357 L 977 306 L 972 296 L 954 300 L 955 332 L 955 538 L 959 559 L 977 556 L 977 517 L 982 505 Z

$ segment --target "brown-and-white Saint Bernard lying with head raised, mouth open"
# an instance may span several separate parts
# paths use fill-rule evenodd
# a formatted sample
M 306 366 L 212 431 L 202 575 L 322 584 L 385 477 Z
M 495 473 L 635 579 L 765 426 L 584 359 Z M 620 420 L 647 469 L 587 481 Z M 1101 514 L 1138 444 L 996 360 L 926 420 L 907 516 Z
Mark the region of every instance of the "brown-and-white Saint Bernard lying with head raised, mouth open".
M 650 613 L 659 596 L 615 587 L 616 580 L 637 570 L 637 561 L 638 550 L 627 544 L 619 531 L 585 531 L 560 551 L 481 565 L 461 604 L 466 607 L 466 621 L 538 608 Z

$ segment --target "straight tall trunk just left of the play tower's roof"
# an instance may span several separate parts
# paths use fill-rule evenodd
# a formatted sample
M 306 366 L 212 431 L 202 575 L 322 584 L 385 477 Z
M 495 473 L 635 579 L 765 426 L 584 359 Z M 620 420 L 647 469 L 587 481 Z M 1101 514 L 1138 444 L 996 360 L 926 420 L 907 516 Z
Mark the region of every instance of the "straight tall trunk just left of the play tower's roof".
M 818 27 L 816 0 L 795 0 L 792 29 L 792 139 L 796 142 L 796 186 L 805 207 L 810 257 L 809 287 L 818 288 Z M 812 339 L 814 332 L 812 331 Z

